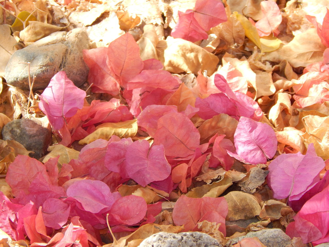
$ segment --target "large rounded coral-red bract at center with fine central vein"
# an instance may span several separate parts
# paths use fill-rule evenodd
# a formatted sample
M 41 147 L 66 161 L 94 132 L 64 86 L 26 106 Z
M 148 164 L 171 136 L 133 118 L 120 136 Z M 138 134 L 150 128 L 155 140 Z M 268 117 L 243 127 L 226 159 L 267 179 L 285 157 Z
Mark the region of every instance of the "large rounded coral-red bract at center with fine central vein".
M 163 144 L 167 156 L 186 157 L 199 146 L 200 134 L 184 114 L 168 113 L 158 120 L 154 143 Z

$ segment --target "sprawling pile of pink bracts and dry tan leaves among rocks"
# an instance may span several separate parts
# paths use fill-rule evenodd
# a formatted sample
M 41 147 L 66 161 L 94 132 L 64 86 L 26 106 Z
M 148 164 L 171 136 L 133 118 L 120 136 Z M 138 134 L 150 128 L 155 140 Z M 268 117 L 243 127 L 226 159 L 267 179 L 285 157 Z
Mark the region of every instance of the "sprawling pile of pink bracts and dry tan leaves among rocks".
M 138 246 L 160 231 L 226 243 L 269 223 L 293 241 L 329 242 L 329 10 L 161 3 L 171 36 L 123 5 L 127 32 L 84 50 L 92 94 L 109 100 L 88 102 L 64 71 L 51 79 L 38 108 L 58 143 L 45 157 L 2 143 L 8 243 Z

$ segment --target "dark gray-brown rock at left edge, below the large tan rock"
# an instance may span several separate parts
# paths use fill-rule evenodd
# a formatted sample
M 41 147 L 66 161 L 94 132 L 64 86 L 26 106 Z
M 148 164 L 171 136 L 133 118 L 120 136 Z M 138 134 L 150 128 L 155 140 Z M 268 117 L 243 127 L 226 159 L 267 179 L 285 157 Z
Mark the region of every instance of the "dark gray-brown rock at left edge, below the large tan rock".
M 2 128 L 3 140 L 14 140 L 22 144 L 30 154 L 38 159 L 47 153 L 51 143 L 51 128 L 47 128 L 39 119 L 16 119 Z

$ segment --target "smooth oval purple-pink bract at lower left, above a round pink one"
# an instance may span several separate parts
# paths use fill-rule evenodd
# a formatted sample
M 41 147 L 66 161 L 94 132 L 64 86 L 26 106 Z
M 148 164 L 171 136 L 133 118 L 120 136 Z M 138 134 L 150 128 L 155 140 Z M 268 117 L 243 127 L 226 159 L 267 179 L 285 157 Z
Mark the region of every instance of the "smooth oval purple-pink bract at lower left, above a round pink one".
M 110 209 L 114 203 L 109 186 L 98 180 L 76 181 L 67 188 L 66 194 L 80 202 L 83 207 L 81 209 L 91 213 Z

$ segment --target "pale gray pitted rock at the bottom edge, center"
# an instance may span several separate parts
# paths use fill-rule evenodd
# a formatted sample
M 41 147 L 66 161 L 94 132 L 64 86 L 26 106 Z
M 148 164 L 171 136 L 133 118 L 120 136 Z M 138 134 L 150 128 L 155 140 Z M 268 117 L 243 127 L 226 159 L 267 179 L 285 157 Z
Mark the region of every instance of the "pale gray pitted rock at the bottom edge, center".
M 218 247 L 218 241 L 206 233 L 155 233 L 145 238 L 139 247 Z

